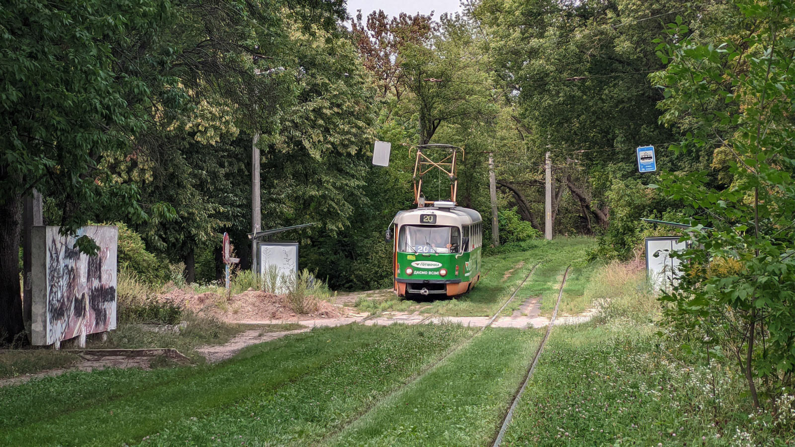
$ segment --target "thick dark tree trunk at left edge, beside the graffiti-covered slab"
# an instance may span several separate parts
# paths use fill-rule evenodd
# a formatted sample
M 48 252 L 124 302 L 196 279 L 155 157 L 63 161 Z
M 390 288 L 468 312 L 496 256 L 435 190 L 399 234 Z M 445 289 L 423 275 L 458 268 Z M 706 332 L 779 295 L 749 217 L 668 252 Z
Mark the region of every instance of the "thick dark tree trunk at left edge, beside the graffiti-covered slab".
M 0 343 L 25 332 L 19 287 L 19 242 L 22 197 L 14 193 L 0 202 Z

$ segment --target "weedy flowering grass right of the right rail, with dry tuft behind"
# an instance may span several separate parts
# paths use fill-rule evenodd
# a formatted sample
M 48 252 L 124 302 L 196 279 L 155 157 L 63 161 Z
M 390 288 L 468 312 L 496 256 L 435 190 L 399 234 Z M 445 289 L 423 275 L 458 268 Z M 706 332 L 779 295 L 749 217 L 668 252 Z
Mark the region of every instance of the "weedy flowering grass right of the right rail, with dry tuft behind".
M 795 441 L 791 400 L 756 413 L 747 384 L 727 360 L 708 365 L 679 348 L 675 334 L 659 336 L 659 306 L 642 271 L 612 265 L 597 273 L 584 294 L 603 313 L 553 330 L 503 445 Z

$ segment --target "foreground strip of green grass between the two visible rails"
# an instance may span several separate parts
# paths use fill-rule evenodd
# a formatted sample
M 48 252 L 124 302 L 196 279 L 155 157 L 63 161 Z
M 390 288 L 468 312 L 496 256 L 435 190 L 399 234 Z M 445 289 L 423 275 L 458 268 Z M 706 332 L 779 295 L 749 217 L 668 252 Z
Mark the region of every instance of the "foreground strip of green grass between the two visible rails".
M 490 328 L 347 427 L 332 445 L 486 445 L 541 340 Z

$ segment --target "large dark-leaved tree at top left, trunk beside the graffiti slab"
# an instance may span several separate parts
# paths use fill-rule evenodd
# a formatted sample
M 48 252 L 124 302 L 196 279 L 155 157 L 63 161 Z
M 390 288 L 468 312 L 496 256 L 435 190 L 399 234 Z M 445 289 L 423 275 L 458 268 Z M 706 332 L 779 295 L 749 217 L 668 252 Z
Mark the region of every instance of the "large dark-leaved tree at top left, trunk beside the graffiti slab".
M 273 109 L 254 106 L 278 104 L 273 101 L 278 88 L 254 76 L 254 56 L 281 56 L 288 33 L 280 18 L 285 11 L 305 29 L 334 29 L 344 15 L 336 0 L 4 6 L 0 120 L 9 131 L 0 157 L 3 340 L 22 330 L 17 263 L 22 197 L 39 188 L 60 202 L 64 231 L 99 214 L 144 220 L 138 185 L 111 166 L 121 161 L 156 166 L 158 150 L 169 147 L 158 138 L 163 123 L 190 113 L 196 98 L 208 91 L 235 104 L 248 128 L 253 123 L 273 128 Z M 157 210 L 169 207 L 149 208 Z M 90 251 L 90 241 L 80 240 Z

